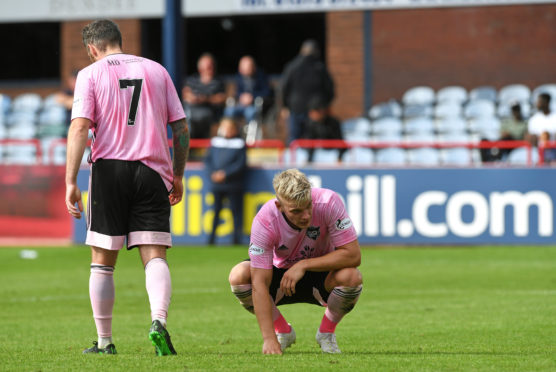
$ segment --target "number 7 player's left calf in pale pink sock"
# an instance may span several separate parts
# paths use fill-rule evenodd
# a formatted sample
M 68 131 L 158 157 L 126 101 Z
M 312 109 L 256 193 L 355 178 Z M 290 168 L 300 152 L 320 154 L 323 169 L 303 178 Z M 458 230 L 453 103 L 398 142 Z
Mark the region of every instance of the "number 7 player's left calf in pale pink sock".
M 89 297 L 98 333 L 98 347 L 112 343 L 112 310 L 114 308 L 114 267 L 91 264 Z

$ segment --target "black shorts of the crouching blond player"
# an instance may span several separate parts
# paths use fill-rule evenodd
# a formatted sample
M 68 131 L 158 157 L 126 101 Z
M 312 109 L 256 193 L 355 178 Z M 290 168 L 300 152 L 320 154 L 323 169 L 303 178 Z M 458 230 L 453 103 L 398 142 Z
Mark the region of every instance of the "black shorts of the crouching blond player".
M 306 271 L 303 278 L 295 285 L 295 294 L 289 297 L 280 290 L 280 281 L 286 271 L 288 269 L 279 269 L 274 266 L 272 268 L 272 282 L 269 291 L 276 306 L 298 303 L 325 306 L 330 295 L 330 292 L 327 292 L 324 287 L 328 271 Z

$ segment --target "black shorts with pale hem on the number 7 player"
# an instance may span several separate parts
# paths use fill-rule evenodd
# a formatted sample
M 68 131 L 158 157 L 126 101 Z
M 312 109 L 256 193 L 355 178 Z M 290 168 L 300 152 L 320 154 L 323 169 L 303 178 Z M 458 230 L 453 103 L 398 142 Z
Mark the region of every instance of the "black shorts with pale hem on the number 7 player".
M 140 161 L 99 159 L 89 180 L 87 244 L 171 246 L 170 201 L 160 175 Z

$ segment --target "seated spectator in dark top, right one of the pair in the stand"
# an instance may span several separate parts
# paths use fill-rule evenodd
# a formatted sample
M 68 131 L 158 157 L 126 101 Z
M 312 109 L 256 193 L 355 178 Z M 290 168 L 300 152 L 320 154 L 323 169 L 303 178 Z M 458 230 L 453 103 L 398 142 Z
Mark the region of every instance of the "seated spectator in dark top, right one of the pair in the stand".
M 253 57 L 244 56 L 239 60 L 235 86 L 235 105 L 226 107 L 224 115 L 233 118 L 243 117 L 245 122 L 249 123 L 257 115 L 255 98 L 267 100 L 272 93 L 268 77 L 257 68 Z

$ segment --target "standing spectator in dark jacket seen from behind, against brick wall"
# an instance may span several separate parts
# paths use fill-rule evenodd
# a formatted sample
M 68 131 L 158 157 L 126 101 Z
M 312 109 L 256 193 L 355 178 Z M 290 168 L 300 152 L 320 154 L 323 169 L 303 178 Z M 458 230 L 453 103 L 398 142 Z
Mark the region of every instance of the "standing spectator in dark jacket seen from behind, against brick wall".
M 282 104 L 289 110 L 288 143 L 303 136 L 308 104 L 313 97 L 322 99 L 326 106 L 334 98 L 334 82 L 319 58 L 317 43 L 306 40 L 282 74 Z

